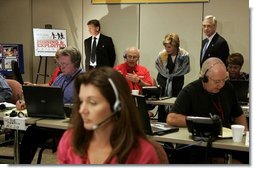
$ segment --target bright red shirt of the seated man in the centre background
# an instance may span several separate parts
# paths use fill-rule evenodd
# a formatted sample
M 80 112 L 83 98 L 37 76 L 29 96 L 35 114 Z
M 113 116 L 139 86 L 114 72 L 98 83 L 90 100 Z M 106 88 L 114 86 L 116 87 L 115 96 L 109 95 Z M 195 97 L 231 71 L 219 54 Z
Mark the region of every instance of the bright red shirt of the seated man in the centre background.
M 123 76 L 126 76 L 127 73 L 132 73 L 134 71 L 142 79 L 143 82 L 148 83 L 150 86 L 153 85 L 153 78 L 151 77 L 147 68 L 144 66 L 137 64 L 135 65 L 134 68 L 132 68 L 128 66 L 128 64 L 125 62 L 119 65 L 116 65 L 114 69 L 121 71 Z M 140 91 L 140 93 L 142 92 L 142 87 L 138 83 L 128 81 L 128 84 L 131 90 L 137 89 Z

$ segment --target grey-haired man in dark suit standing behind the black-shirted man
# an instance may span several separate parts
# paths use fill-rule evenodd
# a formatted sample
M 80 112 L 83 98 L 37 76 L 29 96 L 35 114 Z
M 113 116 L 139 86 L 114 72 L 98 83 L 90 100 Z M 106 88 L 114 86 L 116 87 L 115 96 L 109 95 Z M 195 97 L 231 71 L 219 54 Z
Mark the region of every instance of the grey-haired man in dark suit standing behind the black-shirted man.
M 226 65 L 226 60 L 229 56 L 229 47 L 227 41 L 216 32 L 216 18 L 212 15 L 206 16 L 202 22 L 202 26 L 207 38 L 202 41 L 200 67 L 210 57 L 218 57 Z

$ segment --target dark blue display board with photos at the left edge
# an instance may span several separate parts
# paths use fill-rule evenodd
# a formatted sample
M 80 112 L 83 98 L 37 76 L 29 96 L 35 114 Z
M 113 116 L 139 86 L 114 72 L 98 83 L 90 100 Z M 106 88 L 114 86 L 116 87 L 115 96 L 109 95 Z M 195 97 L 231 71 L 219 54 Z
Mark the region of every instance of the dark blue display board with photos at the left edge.
M 24 74 L 23 45 L 0 43 L 0 73 L 2 75 L 13 74 L 12 60 L 18 62 L 20 73 Z

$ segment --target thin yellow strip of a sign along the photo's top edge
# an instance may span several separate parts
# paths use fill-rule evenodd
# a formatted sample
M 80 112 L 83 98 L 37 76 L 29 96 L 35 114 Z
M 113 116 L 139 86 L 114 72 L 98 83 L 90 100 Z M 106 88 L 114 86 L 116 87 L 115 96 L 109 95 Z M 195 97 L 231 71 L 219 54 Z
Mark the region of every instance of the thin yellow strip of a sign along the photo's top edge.
M 209 0 L 92 0 L 92 4 L 209 2 Z

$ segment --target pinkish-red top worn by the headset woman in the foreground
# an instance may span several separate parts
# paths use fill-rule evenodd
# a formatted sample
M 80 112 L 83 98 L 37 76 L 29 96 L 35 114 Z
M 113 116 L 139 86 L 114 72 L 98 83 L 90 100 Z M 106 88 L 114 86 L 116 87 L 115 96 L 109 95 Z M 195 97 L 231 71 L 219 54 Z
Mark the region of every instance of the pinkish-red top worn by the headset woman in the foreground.
M 65 131 L 57 149 L 57 159 L 60 164 L 90 164 L 87 155 L 77 155 L 71 146 L 71 129 Z M 153 145 L 143 138 L 138 139 L 138 147 L 133 148 L 125 164 L 159 164 L 160 160 Z M 117 164 L 116 157 L 104 164 Z

